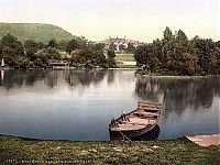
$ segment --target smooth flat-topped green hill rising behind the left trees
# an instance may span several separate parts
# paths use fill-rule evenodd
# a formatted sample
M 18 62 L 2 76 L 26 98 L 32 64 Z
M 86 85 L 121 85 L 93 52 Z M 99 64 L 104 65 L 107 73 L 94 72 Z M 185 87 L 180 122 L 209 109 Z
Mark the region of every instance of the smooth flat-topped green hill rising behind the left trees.
M 21 42 L 28 38 L 47 43 L 50 40 L 69 41 L 74 36 L 59 26 L 41 23 L 0 23 L 0 37 L 10 33 Z

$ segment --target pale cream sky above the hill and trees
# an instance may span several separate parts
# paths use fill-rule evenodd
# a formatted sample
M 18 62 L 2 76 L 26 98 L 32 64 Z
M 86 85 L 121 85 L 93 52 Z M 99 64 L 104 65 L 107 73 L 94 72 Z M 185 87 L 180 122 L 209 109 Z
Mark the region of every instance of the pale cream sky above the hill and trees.
M 92 41 L 152 42 L 166 26 L 217 41 L 219 19 L 219 0 L 0 0 L 0 22 L 54 24 Z

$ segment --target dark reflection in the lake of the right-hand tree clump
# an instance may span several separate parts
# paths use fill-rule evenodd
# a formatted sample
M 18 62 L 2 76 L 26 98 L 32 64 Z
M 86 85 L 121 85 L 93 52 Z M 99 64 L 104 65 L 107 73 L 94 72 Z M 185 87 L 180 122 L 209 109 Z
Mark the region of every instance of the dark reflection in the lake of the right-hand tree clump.
M 209 108 L 215 96 L 220 97 L 220 77 L 208 78 L 153 78 L 136 80 L 135 95 L 143 100 L 160 100 L 163 96 L 165 111 L 182 114 L 186 108 Z

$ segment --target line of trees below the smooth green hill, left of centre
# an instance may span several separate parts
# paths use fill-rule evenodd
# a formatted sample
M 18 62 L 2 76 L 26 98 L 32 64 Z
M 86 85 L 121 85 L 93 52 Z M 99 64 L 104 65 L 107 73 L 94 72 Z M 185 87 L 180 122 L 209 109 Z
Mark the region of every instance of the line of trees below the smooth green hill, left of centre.
M 95 43 L 85 37 L 57 43 L 51 40 L 44 44 L 34 40 L 20 42 L 11 34 L 0 40 L 0 58 L 14 68 L 47 68 L 50 59 L 66 61 L 75 67 L 116 67 L 113 51 L 103 53 L 105 44 Z

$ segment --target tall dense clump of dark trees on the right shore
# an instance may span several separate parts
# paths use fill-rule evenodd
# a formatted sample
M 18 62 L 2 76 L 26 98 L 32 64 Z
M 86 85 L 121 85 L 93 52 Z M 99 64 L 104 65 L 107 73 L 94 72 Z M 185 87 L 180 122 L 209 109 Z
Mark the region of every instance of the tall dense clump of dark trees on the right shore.
M 220 42 L 195 36 L 188 40 L 179 30 L 169 28 L 162 40 L 141 45 L 134 57 L 142 74 L 158 75 L 217 75 L 220 74 Z

